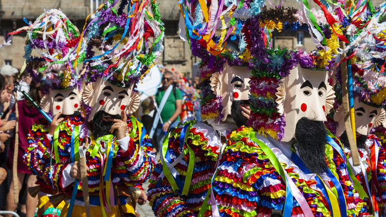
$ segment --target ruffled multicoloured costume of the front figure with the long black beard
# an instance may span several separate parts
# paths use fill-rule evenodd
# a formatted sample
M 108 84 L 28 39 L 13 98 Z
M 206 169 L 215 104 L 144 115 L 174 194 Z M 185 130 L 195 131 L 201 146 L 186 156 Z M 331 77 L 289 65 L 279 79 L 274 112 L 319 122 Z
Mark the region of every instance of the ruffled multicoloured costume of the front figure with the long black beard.
M 283 210 L 288 203 L 286 180 L 277 171 L 261 145 L 251 140 L 252 136 L 255 136 L 252 131 L 253 128 L 241 127 L 228 135 L 227 146 L 213 181 L 213 197 L 221 216 L 269 217 L 273 209 Z M 331 203 L 334 200 L 323 193 L 321 187 L 323 183 L 318 183 L 316 174 L 303 172 L 301 165 L 296 165 L 276 147 L 276 145 L 280 146 L 277 140 L 257 134 L 256 139 L 272 150 L 304 197 L 313 216 L 332 216 L 333 211 L 328 200 Z M 354 214 L 356 217 L 369 216 L 365 204 L 360 200 L 359 194 L 355 192 L 349 179 L 344 159 L 331 145 L 326 145 L 326 157 L 331 172 L 343 189 L 346 201 L 343 207 L 347 208 L 344 210 L 347 216 L 353 217 Z M 321 175 L 321 179 L 328 182 L 330 186 L 334 186 L 325 173 Z M 293 198 L 291 216 L 306 216 L 299 203 Z M 333 204 L 333 206 L 337 205 Z M 201 212 L 204 212 L 204 216 L 211 216 L 210 206 L 204 203 L 203 208 L 205 209 Z

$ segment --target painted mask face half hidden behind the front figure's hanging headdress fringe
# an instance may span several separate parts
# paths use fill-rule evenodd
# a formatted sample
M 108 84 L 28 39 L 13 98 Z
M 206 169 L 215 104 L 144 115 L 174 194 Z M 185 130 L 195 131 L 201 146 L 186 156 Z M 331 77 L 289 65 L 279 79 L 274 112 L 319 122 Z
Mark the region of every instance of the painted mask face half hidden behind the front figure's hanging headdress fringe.
M 214 94 L 222 97 L 221 106 L 223 107 L 222 114 L 224 115 L 222 120 L 231 115 L 235 109 L 240 109 L 242 104 L 247 103 L 250 80 L 247 67 L 231 67 L 225 63 L 221 74 L 220 72 L 214 73 L 210 80 L 210 86 Z M 232 116 L 234 115 L 232 114 Z

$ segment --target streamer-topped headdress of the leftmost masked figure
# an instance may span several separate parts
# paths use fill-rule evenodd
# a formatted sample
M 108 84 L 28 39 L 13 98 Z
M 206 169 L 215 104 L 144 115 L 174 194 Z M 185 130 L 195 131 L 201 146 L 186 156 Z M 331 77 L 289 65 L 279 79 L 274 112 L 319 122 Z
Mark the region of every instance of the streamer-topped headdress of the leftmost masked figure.
M 72 66 L 76 56 L 74 47 L 80 39 L 76 26 L 60 9 L 50 9 L 28 24 L 10 33 L 27 32 L 22 71 L 27 70 L 37 83 L 41 83 L 44 93 L 49 89 L 81 86 L 82 76 Z M 32 51 L 39 55 L 32 56 Z M 84 54 L 80 56 L 82 58 Z M 38 77 L 40 71 L 45 72 L 43 78 Z

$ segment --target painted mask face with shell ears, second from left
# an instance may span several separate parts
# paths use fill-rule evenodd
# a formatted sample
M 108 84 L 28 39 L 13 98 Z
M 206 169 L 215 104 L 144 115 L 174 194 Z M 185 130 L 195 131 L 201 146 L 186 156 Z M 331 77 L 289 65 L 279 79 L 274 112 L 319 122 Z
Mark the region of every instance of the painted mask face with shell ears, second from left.
M 89 121 L 98 111 L 104 111 L 110 115 L 120 115 L 122 110 L 125 113 L 133 113 L 139 107 L 139 96 L 130 88 L 120 88 L 112 85 L 102 78 L 88 84 L 83 93 L 83 101 L 93 109 L 89 115 Z

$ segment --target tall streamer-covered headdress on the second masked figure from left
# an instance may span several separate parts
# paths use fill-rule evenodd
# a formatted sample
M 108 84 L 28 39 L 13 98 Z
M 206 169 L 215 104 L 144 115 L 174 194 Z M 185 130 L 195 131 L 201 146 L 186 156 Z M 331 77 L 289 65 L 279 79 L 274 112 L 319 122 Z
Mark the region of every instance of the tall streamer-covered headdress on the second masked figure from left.
M 129 87 L 163 51 L 164 27 L 155 0 L 122 0 L 119 6 L 117 2 L 100 5 L 85 28 L 84 63 L 88 82 L 103 77 L 116 86 Z

